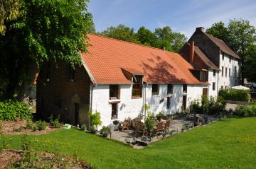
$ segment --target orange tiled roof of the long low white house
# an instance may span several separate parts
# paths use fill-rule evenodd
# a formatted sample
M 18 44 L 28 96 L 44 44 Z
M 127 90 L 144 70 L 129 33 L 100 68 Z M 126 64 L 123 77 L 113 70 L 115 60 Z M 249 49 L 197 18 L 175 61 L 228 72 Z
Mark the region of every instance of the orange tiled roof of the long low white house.
M 180 54 L 153 47 L 88 34 L 90 47 L 82 53 L 94 83 L 131 84 L 122 69 L 132 74 L 144 74 L 147 83 L 194 83 L 198 81 L 188 69 L 193 66 Z

